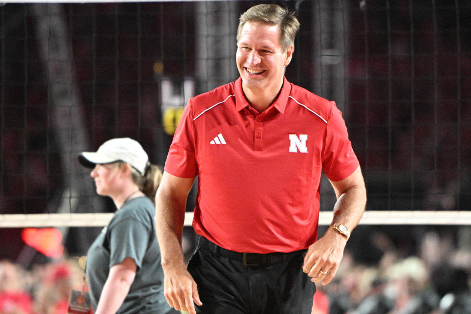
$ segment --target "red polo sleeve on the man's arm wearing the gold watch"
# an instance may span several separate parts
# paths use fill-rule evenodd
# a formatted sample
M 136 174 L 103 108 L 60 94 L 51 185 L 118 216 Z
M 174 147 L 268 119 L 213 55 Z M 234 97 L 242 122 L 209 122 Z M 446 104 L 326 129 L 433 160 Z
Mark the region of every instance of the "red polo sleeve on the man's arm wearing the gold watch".
M 332 116 L 327 123 L 322 153 L 322 171 L 330 180 L 341 181 L 351 175 L 358 165 L 342 113 L 332 102 Z

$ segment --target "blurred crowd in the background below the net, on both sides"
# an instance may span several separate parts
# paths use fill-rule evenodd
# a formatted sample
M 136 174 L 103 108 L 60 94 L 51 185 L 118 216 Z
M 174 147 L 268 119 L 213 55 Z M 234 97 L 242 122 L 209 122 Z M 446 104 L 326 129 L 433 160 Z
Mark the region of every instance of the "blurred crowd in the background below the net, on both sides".
M 421 236 L 412 255 L 387 235 L 372 239 L 382 250 L 379 262 L 360 262 L 347 246 L 334 280 L 317 284 L 313 314 L 471 313 L 469 247 L 434 231 Z M 71 290 L 86 288 L 83 274 L 77 259 L 30 269 L 2 261 L 0 314 L 67 314 Z

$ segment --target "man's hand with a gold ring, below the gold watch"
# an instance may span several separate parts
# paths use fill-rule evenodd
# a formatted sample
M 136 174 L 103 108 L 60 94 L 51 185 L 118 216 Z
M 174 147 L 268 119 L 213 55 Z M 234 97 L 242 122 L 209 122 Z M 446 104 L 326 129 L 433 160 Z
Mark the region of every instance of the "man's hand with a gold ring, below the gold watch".
M 333 230 L 311 244 L 304 257 L 303 271 L 311 277 L 311 281 L 322 280 L 322 286 L 327 285 L 337 273 L 343 257 L 343 249 L 347 238 Z

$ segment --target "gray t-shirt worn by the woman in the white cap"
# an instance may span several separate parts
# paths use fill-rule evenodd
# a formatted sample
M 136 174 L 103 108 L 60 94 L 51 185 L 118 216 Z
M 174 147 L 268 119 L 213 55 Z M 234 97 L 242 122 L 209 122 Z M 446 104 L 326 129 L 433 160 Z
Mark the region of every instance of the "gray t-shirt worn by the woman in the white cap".
M 117 314 L 171 311 L 163 295 L 163 270 L 154 212 L 154 205 L 145 196 L 127 201 L 90 246 L 86 274 L 94 312 L 110 267 L 127 257 L 134 259 L 137 271 Z

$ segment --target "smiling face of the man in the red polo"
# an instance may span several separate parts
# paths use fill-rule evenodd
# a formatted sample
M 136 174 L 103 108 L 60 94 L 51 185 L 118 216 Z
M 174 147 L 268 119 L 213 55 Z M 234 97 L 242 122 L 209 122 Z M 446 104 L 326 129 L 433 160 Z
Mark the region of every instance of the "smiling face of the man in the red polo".
M 278 93 L 293 47 L 283 52 L 277 25 L 246 23 L 237 42 L 236 62 L 244 88 Z

